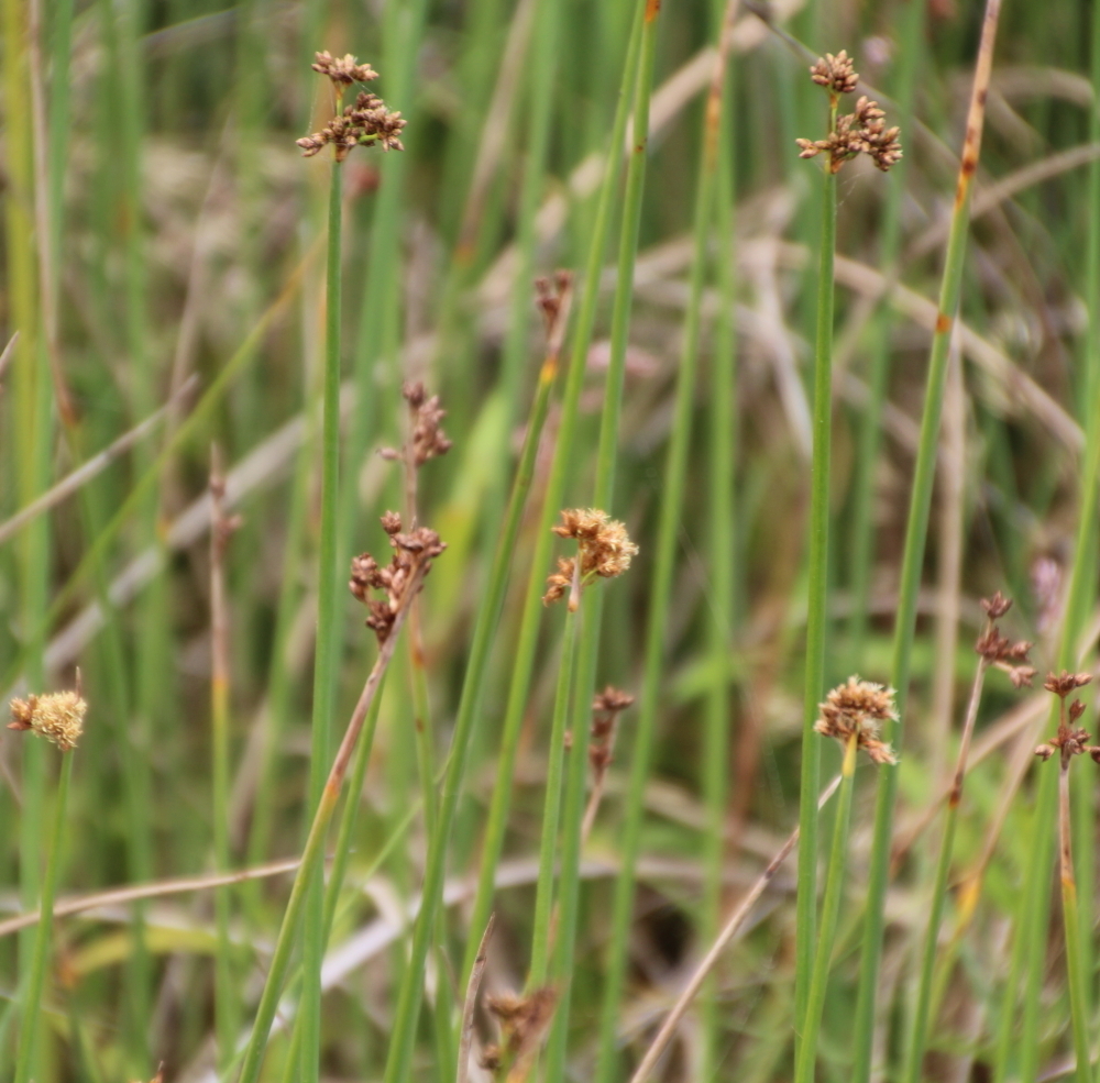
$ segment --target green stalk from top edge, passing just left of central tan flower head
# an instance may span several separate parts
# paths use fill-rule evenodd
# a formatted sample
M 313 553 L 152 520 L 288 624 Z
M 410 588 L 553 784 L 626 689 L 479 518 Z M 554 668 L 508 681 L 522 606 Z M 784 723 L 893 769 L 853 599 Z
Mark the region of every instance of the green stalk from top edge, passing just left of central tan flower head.
M 604 181 L 592 230 L 588 259 L 585 265 L 584 290 L 570 346 L 569 374 L 565 379 L 565 393 L 562 400 L 561 423 L 558 429 L 553 462 L 550 467 L 550 477 L 547 479 L 546 497 L 536 534 L 531 574 L 527 584 L 527 594 L 524 598 L 524 612 L 520 619 L 516 653 L 513 660 L 512 682 L 508 687 L 504 729 L 497 754 L 496 780 L 490 803 L 485 839 L 482 843 L 477 891 L 474 895 L 473 908 L 471 910 L 470 928 L 475 930 L 485 928 L 488 921 L 496 883 L 496 866 L 501 860 L 501 851 L 504 847 L 504 835 L 507 828 L 508 810 L 512 803 L 512 783 L 516 765 L 516 750 L 519 744 L 524 712 L 527 708 L 527 695 L 530 688 L 535 653 L 538 647 L 539 625 L 542 619 L 543 583 L 546 579 L 546 570 L 550 564 L 550 546 L 552 542 L 550 528 L 561 509 L 562 499 L 565 494 L 565 482 L 569 477 L 576 440 L 578 406 L 581 399 L 581 389 L 584 386 L 585 360 L 588 355 L 588 344 L 592 340 L 592 329 L 596 317 L 596 302 L 600 296 L 600 273 L 603 267 L 604 248 L 607 244 L 612 201 L 615 198 L 618 178 L 622 173 L 623 158 L 618 153 L 618 148 L 623 145 L 629 104 L 632 100 L 630 89 L 634 87 L 637 77 L 642 11 L 642 5 L 639 3 L 637 5 L 635 29 L 631 33 L 627 59 L 624 66 L 623 88 L 619 92 L 615 123 L 608 141 Z M 591 611 L 592 608 L 590 607 L 590 615 Z M 469 982 L 476 948 L 476 936 L 474 936 L 466 942 L 466 953 L 462 966 L 463 983 Z

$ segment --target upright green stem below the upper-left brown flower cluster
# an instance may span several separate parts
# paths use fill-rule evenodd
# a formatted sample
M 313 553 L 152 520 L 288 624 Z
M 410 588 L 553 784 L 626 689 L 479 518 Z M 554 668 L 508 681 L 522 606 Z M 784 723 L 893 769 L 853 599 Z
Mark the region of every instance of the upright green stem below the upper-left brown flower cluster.
M 340 112 L 340 100 L 336 112 Z M 336 707 L 340 665 L 340 322 L 343 168 L 333 161 L 329 189 L 328 264 L 326 270 L 324 377 L 321 417 L 321 540 L 317 554 L 317 640 L 314 652 L 314 706 L 309 752 L 309 800 L 312 817 L 324 787 L 329 732 Z M 321 962 L 324 957 L 324 875 L 311 874 L 302 928 L 301 1027 L 304 1083 L 316 1080 L 321 1056 Z

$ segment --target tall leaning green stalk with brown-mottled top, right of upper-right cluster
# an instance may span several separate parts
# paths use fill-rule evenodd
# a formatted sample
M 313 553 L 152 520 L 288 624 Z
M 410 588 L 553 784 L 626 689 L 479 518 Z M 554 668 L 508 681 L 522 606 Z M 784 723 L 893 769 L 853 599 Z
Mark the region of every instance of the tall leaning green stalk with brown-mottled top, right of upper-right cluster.
M 1000 0 L 987 0 L 982 24 L 981 44 L 975 70 L 967 134 L 963 147 L 955 209 L 947 240 L 947 255 L 939 288 L 938 317 L 928 357 L 928 376 L 921 418 L 921 436 L 917 445 L 916 466 L 910 497 L 909 520 L 905 524 L 905 545 L 902 555 L 901 582 L 898 589 L 898 615 L 894 620 L 893 650 L 890 683 L 898 690 L 898 715 L 904 717 L 909 694 L 910 664 L 916 626 L 916 597 L 921 586 L 921 567 L 928 530 L 932 505 L 932 485 L 936 469 L 936 446 L 939 417 L 943 408 L 947 377 L 947 357 L 952 330 L 959 308 L 963 289 L 963 265 L 966 237 L 970 219 L 970 197 L 974 175 L 978 168 L 981 131 L 985 122 L 986 95 L 993 64 L 993 42 L 1000 15 Z M 900 721 L 883 734 L 894 748 L 901 747 Z M 875 1034 L 876 1002 L 878 996 L 879 965 L 882 959 L 883 908 L 886 906 L 887 876 L 890 865 L 890 836 L 893 827 L 893 808 L 898 792 L 898 772 L 888 771 L 879 777 L 875 805 L 875 831 L 871 841 L 871 864 L 868 876 L 867 918 L 860 953 L 859 993 L 856 1003 L 855 1040 L 853 1056 L 854 1083 L 867 1083 L 871 1074 L 871 1048 Z

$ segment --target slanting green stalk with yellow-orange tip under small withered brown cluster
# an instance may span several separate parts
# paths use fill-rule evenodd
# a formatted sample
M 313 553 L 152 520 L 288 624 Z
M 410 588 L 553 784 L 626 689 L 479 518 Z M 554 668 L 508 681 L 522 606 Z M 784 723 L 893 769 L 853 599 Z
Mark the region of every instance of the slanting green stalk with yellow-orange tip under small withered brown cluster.
M 485 587 L 482 605 L 477 611 L 473 642 L 470 648 L 470 661 L 466 664 L 458 717 L 454 722 L 454 733 L 451 738 L 450 758 L 443 776 L 437 830 L 428 840 L 428 860 L 425 867 L 420 910 L 414 924 L 413 950 L 402 980 L 397 1010 L 394 1016 L 389 1051 L 386 1058 L 386 1083 L 398 1083 L 398 1081 L 404 1083 L 409 1078 L 417 1020 L 420 1015 L 420 999 L 424 994 L 425 964 L 431 941 L 431 930 L 442 898 L 451 826 L 462 793 L 473 727 L 481 712 L 490 650 L 501 620 L 505 588 L 508 583 L 508 566 L 516 546 L 516 537 L 519 532 L 524 506 L 527 502 L 527 494 L 531 487 L 535 457 L 549 407 L 550 388 L 557 372 L 558 352 L 552 350 L 548 352 L 539 373 L 535 408 L 531 421 L 527 427 L 524 451 L 513 483 L 504 529 L 501 532 L 496 554 L 493 559 L 492 572 Z

